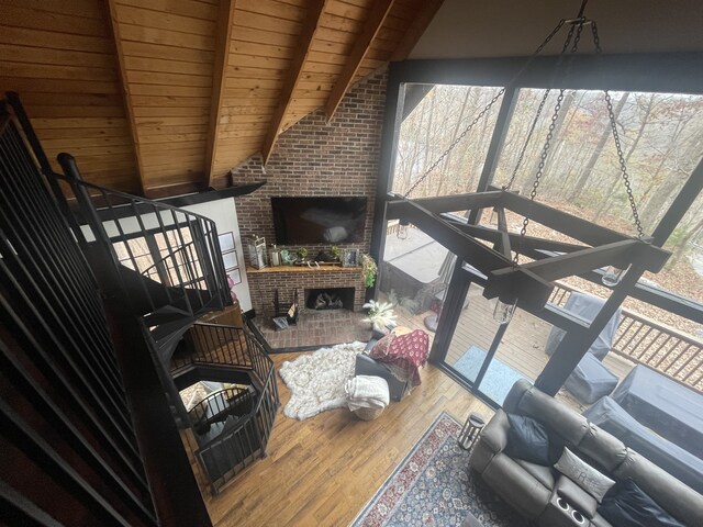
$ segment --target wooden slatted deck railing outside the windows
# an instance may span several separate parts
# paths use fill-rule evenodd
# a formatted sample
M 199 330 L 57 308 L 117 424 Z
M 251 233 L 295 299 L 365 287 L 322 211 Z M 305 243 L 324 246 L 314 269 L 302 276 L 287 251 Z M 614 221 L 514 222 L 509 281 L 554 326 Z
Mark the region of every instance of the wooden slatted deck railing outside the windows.
M 549 302 L 563 306 L 572 291 L 557 283 Z M 623 309 L 612 351 L 703 392 L 703 343 L 676 328 Z

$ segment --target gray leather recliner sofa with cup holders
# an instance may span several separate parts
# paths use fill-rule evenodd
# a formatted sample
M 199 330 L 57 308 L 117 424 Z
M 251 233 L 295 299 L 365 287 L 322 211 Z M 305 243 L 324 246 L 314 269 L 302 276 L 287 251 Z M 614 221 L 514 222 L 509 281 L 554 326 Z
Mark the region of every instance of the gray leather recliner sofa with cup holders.
M 587 518 L 585 525 L 611 525 L 598 514 L 595 498 L 568 478 L 551 467 L 513 459 L 504 452 L 510 429 L 506 412 L 535 418 L 548 429 L 550 441 L 568 446 L 611 479 L 631 478 L 683 524 L 703 525 L 701 494 L 625 447 L 620 439 L 590 424 L 585 417 L 521 380 L 507 394 L 503 410 L 499 410 L 481 431 L 469 464 L 498 495 L 527 519 L 539 526 L 577 525 L 569 520 L 557 503 L 560 496 L 566 495 L 573 508 Z

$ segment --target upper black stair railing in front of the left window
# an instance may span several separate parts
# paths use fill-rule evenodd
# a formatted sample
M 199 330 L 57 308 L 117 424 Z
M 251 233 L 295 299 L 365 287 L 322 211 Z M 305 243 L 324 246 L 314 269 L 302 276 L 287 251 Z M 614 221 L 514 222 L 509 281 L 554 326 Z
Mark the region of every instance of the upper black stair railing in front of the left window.
M 135 306 L 146 302 L 141 311 L 148 313 L 181 302 L 180 309 L 194 316 L 205 306 L 222 309 L 232 303 L 212 220 L 89 183 L 81 179 L 71 156 L 60 154 L 58 160 L 66 177 L 51 176 L 68 182 L 76 197 L 79 209 L 72 212 L 81 235 L 102 247 Z M 102 206 L 98 209 L 96 202 Z M 148 251 L 136 254 L 134 240 L 145 244 Z M 116 248 L 121 249 L 122 258 Z M 122 278 L 122 265 L 141 276 L 136 288 Z M 153 271 L 158 280 L 154 280 Z

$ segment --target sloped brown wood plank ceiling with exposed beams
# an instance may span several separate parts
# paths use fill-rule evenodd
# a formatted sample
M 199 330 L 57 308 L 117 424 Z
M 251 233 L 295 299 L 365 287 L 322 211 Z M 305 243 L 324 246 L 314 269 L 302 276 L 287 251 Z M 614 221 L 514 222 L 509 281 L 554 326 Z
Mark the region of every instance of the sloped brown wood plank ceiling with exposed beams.
M 230 168 L 408 56 L 442 0 L 0 0 L 0 90 L 47 154 L 150 197 Z M 58 167 L 56 167 L 58 168 Z

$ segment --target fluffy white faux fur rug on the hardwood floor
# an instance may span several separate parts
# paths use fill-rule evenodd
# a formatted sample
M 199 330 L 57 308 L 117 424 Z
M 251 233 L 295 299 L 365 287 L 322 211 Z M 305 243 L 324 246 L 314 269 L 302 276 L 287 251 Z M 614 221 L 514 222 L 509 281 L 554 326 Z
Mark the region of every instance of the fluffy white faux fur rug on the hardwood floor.
M 292 392 L 283 414 L 303 421 L 325 410 L 346 406 L 344 384 L 354 378 L 356 356 L 365 346 L 338 344 L 283 362 L 278 372 Z

